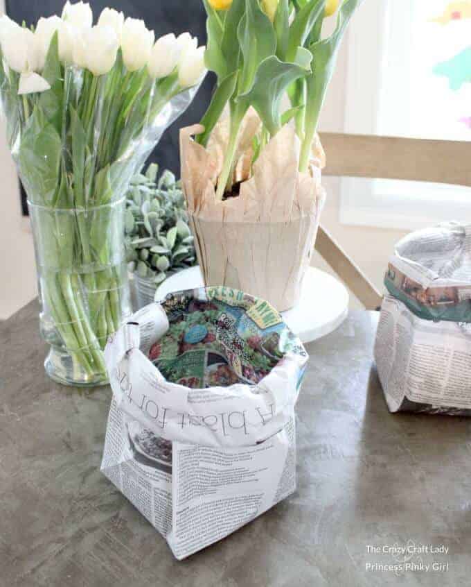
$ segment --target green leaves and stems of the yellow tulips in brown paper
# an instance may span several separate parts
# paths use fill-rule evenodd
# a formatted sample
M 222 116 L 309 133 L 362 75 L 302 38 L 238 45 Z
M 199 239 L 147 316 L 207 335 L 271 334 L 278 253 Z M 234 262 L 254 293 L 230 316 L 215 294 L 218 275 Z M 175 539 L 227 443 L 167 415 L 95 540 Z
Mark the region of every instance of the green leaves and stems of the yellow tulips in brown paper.
M 335 33 L 326 40 L 320 40 L 326 0 L 279 0 L 274 22 L 263 11 L 260 0 L 233 0 L 229 10 L 220 11 L 203 1 L 208 15 L 206 65 L 217 75 L 217 90 L 202 119 L 205 130 L 197 142 L 207 144 L 229 105 L 229 142 L 217 185 L 217 198 L 222 199 L 224 191 L 231 189 L 240 125 L 250 106 L 263 123 L 254 140 L 254 157 L 266 139 L 294 117 L 296 133 L 303 142 L 300 169 L 307 169 L 304 159 L 307 153 L 309 160 L 337 49 L 362 0 L 344 0 Z M 286 92 L 292 109 L 283 115 L 281 103 Z

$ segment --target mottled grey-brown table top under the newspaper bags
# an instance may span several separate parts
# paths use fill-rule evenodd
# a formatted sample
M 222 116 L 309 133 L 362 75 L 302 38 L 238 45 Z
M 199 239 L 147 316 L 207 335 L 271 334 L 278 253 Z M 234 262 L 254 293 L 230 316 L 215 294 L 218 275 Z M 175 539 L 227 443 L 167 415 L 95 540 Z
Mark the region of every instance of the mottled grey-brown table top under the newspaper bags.
M 296 493 L 178 562 L 100 474 L 111 391 L 48 380 L 37 305 L 21 309 L 0 326 L 0 585 L 470 585 L 471 420 L 391 416 L 376 325 L 353 313 L 307 346 Z

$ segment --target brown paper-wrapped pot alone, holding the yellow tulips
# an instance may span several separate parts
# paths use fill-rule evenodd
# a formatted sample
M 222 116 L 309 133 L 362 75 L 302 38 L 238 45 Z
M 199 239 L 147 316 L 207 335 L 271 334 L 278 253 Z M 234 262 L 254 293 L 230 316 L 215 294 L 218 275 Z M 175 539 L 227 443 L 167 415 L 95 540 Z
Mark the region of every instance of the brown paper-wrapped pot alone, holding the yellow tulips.
M 247 291 L 284 312 L 299 300 L 319 228 L 323 151 L 318 142 L 310 172 L 300 173 L 299 139 L 286 125 L 251 170 L 251 144 L 260 121 L 249 111 L 233 178 L 240 193 L 217 201 L 226 124 L 216 127 L 207 148 L 192 139 L 202 126 L 180 134 L 181 179 L 204 282 Z

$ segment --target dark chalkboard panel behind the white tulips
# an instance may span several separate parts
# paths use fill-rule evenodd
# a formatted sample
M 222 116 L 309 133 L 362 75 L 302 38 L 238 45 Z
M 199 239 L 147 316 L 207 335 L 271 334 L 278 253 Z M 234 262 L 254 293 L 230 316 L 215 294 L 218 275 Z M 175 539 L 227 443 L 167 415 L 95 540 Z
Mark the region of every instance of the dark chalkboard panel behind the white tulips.
M 17 22 L 24 20 L 32 24 L 42 16 L 60 15 L 64 3 L 64 0 L 6 0 L 6 10 Z M 154 29 L 156 37 L 190 31 L 198 37 L 200 44 L 206 43 L 202 0 L 90 0 L 89 3 L 94 10 L 95 21 L 103 8 L 109 6 L 123 10 L 127 16 L 143 18 L 148 28 Z M 151 157 L 152 161 L 159 163 L 161 169 L 172 169 L 179 176 L 178 129 L 199 122 L 207 108 L 212 87 L 213 78 L 208 76 L 184 116 L 163 135 Z

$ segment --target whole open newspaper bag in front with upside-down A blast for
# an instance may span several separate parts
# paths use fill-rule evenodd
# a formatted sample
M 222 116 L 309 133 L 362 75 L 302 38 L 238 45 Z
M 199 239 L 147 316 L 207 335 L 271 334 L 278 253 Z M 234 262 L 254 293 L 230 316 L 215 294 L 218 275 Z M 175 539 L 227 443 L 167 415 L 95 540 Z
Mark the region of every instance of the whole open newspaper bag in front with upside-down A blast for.
M 105 357 L 103 473 L 177 559 L 293 493 L 308 355 L 266 301 L 222 287 L 170 294 L 134 314 Z

